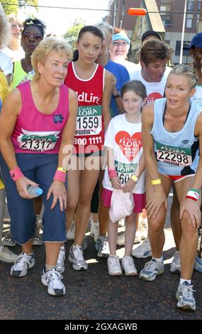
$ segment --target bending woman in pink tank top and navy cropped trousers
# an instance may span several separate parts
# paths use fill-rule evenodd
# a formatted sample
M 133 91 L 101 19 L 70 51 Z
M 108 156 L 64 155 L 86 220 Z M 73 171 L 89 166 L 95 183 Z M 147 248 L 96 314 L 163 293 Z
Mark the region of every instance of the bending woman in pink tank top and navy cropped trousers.
M 77 117 L 77 95 L 63 85 L 72 49 L 65 41 L 47 38 L 35 48 L 33 82 L 13 90 L 0 117 L 0 163 L 6 185 L 11 234 L 22 253 L 11 267 L 11 276 L 26 276 L 35 264 L 35 215 L 30 185 L 43 190 L 43 241 L 45 269 L 41 276 L 47 292 L 65 293 L 57 269 L 60 246 L 66 240 L 65 178 L 71 156 Z M 56 228 L 57 226 L 57 228 Z

